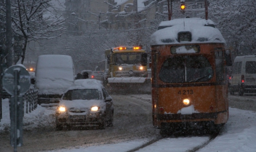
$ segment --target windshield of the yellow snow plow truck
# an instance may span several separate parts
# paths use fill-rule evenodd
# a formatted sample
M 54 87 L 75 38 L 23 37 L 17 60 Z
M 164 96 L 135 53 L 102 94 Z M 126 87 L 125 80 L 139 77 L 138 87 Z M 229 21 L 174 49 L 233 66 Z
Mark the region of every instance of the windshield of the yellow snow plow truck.
M 116 53 L 114 62 L 115 65 L 134 65 L 141 64 L 141 52 L 132 52 L 132 53 Z

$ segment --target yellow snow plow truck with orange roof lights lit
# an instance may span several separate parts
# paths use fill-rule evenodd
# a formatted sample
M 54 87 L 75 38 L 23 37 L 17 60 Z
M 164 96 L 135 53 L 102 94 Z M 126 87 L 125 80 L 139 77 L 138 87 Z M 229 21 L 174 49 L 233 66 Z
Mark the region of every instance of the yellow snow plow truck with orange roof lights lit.
M 107 49 L 109 71 L 105 86 L 111 93 L 151 93 L 147 53 L 142 46 L 119 46 Z

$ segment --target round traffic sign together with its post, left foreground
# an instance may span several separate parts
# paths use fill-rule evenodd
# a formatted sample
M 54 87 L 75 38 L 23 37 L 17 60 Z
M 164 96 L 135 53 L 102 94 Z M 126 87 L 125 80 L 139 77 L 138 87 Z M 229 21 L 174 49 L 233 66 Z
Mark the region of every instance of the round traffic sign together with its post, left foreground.
M 11 66 L 3 76 L 3 87 L 12 95 L 10 102 L 11 133 L 10 143 L 17 151 L 17 146 L 22 146 L 23 134 L 23 101 L 24 95 L 30 87 L 30 75 L 22 66 Z

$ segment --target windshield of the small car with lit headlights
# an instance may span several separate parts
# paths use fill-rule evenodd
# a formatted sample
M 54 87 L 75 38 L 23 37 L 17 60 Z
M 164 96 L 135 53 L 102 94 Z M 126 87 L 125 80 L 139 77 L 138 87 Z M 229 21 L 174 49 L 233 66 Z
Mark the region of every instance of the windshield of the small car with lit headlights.
M 69 90 L 63 95 L 63 100 L 99 100 L 100 93 L 97 89 Z

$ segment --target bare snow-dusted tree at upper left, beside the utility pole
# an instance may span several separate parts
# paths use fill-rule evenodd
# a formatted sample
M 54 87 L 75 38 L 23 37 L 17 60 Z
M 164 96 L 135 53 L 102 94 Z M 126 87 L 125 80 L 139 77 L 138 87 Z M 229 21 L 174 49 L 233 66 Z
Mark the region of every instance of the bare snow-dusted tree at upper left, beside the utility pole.
M 4 20 L 5 1 L 0 3 L 0 16 Z M 11 1 L 13 35 L 20 36 L 22 39 L 21 63 L 25 58 L 29 41 L 54 38 L 56 36 L 51 36 L 53 32 L 64 29 L 62 23 L 65 19 L 61 15 L 53 14 L 54 11 L 57 11 L 57 8 L 54 7 L 51 0 Z

